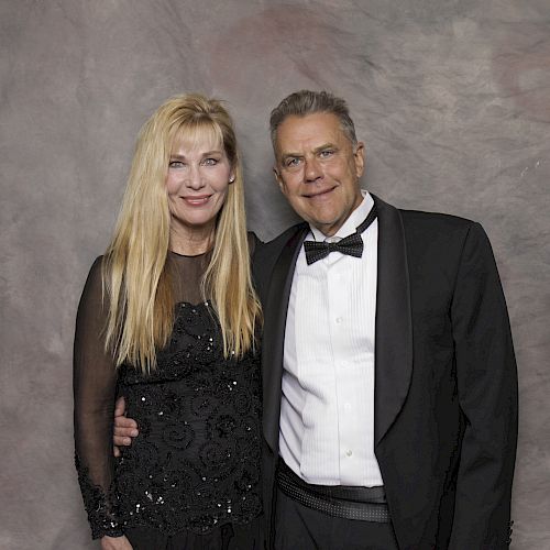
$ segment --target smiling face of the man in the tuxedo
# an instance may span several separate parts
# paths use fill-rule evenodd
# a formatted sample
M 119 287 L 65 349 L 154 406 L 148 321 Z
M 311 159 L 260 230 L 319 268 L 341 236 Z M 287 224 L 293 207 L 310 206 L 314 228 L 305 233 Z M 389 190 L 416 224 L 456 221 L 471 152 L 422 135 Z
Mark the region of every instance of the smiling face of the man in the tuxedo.
M 364 145 L 353 147 L 336 114 L 290 116 L 277 129 L 275 176 L 301 218 L 333 235 L 361 204 Z

